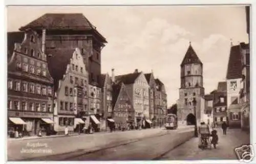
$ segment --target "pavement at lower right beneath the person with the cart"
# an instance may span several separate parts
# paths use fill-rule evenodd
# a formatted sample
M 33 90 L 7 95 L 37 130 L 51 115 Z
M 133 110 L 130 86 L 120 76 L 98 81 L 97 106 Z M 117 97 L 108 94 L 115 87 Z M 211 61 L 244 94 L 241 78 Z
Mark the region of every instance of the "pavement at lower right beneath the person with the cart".
M 161 159 L 166 160 L 199 160 L 199 159 L 237 159 L 234 148 L 250 143 L 250 135 L 241 129 L 228 129 L 227 135 L 223 135 L 218 129 L 219 144 L 217 149 L 201 150 L 198 148 L 198 138 L 191 138 L 186 143 L 169 151 Z M 160 159 L 160 160 L 161 160 Z

